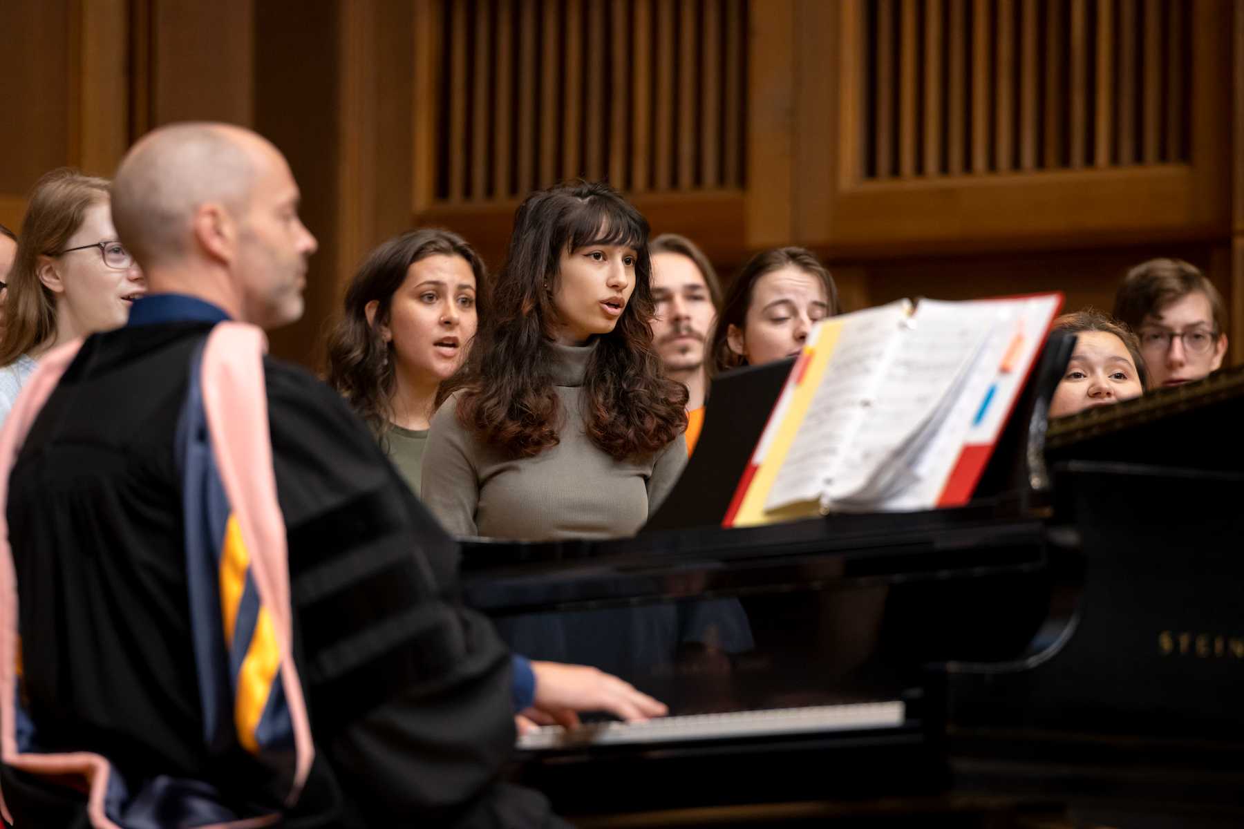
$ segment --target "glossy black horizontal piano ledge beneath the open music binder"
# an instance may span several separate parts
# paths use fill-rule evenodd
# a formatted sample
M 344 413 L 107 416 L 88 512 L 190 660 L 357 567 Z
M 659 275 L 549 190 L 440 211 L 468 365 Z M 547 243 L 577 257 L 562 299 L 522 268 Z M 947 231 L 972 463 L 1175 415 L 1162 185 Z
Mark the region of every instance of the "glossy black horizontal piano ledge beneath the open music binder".
M 1044 566 L 1045 524 L 998 503 L 598 542 L 464 543 L 468 604 L 498 613 L 822 589 Z

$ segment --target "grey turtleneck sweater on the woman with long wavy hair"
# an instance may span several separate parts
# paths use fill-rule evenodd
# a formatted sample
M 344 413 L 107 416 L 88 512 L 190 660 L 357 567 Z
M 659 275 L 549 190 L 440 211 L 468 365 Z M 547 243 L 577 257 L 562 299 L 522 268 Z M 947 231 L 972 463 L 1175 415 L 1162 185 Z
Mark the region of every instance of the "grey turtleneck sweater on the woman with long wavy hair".
M 515 541 L 634 534 L 687 465 L 678 437 L 652 457 L 618 461 L 588 440 L 581 392 L 593 346 L 554 346 L 561 442 L 510 460 L 458 423 L 457 395 L 432 419 L 423 502 L 450 533 Z

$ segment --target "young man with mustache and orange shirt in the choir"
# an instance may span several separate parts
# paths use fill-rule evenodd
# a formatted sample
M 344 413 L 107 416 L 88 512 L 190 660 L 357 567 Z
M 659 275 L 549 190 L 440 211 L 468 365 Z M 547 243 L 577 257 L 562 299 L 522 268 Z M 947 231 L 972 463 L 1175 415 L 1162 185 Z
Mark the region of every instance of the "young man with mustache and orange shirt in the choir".
M 652 240 L 652 298 L 657 316 L 652 338 L 666 374 L 687 387 L 687 454 L 704 425 L 708 395 L 707 347 L 722 307 L 722 287 L 704 252 L 685 236 L 662 234 Z

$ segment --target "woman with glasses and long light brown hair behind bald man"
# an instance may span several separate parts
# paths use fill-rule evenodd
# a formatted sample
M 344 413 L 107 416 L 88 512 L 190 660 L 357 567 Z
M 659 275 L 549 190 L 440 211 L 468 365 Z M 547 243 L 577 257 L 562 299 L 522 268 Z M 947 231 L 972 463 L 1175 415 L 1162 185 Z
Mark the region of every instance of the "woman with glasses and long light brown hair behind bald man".
M 58 169 L 35 184 L 17 254 L 5 280 L 0 337 L 0 424 L 40 355 L 119 328 L 147 292 L 142 270 L 117 241 L 108 180 Z

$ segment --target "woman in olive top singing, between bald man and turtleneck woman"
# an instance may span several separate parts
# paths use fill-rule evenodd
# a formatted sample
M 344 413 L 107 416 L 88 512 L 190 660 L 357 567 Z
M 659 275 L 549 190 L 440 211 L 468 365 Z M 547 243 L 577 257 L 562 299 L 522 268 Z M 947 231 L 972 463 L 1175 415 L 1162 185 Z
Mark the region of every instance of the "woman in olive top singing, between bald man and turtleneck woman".
M 488 307 L 484 262 L 458 234 L 413 230 L 382 244 L 346 290 L 326 379 L 419 492 L 440 383 L 463 363 Z

